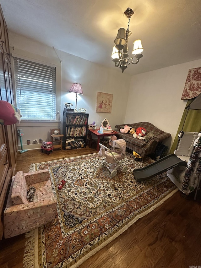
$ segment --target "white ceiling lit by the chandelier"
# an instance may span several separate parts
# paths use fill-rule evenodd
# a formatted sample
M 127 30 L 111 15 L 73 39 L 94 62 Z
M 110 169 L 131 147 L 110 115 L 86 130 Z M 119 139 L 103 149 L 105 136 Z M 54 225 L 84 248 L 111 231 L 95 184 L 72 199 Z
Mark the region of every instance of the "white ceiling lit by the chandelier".
M 0 0 L 8 30 L 94 63 L 111 59 L 123 12 L 132 8 L 132 35 L 142 40 L 143 58 L 124 73 L 139 74 L 201 59 L 201 0 Z M 117 69 L 119 73 L 122 71 Z

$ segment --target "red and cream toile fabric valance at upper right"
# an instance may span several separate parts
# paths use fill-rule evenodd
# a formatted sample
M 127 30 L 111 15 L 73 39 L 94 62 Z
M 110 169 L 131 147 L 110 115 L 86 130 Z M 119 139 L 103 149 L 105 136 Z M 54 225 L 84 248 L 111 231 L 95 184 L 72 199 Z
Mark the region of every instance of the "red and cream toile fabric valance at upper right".
M 189 100 L 201 93 L 201 67 L 188 70 L 182 100 Z

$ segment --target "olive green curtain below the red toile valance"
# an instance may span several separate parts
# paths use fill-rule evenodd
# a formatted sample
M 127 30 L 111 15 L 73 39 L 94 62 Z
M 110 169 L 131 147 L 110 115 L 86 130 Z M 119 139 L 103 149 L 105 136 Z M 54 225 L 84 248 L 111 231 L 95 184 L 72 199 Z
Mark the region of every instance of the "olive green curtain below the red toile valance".
M 195 98 L 188 100 L 186 107 L 194 99 Z M 171 150 L 170 150 L 170 154 L 173 154 L 174 150 L 177 147 L 179 131 L 183 130 L 183 131 L 188 131 L 188 132 L 201 132 L 201 110 L 190 110 L 189 109 L 188 113 L 187 113 L 185 123 L 184 123 L 184 126 L 183 126 L 183 129 L 182 129 L 182 125 L 183 125 L 183 122 L 184 122 L 184 118 L 186 116 L 186 112 L 187 112 L 187 109 L 185 109 L 184 112 L 183 112 L 182 119 L 181 119 L 181 122 L 179 124 L 179 128 L 177 130 L 175 140 L 174 140 L 173 145 L 172 145 Z

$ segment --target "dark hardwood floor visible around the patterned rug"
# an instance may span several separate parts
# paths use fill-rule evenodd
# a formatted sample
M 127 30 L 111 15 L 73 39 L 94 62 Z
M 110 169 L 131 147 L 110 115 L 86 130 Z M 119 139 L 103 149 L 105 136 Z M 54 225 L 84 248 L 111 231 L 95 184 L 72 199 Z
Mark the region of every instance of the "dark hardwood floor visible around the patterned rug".
M 39 163 L 95 153 L 96 150 L 40 150 L 18 154 L 17 171 L 28 172 Z M 100 249 L 79 268 L 168 268 L 201 265 L 200 201 L 187 200 L 178 191 L 154 211 L 129 227 L 122 235 Z M 22 268 L 27 238 L 19 235 L 0 241 L 0 268 Z

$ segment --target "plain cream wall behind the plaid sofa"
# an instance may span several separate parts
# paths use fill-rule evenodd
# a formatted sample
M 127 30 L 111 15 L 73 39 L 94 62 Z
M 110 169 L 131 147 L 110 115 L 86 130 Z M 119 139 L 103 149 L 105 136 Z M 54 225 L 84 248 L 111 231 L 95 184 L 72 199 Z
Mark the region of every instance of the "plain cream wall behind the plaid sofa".
M 171 134 L 166 141 L 171 148 L 187 103 L 181 97 L 188 69 L 200 66 L 201 59 L 134 75 L 124 123 L 147 121 L 154 124 Z

